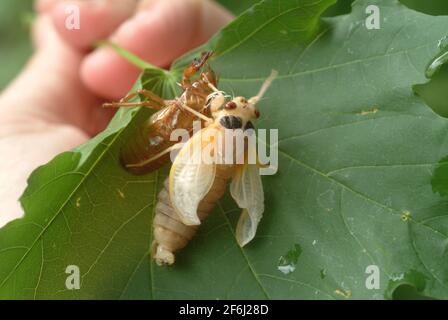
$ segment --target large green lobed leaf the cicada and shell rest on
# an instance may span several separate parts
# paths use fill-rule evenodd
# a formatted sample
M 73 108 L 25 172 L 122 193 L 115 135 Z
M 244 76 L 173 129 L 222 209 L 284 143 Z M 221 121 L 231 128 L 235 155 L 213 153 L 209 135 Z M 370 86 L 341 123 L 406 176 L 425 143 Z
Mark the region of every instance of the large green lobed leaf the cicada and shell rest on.
M 121 111 L 31 176 L 26 217 L 0 230 L 0 298 L 378 299 L 394 296 L 400 275 L 423 296 L 448 298 L 448 202 L 431 184 L 448 154 L 448 121 L 412 91 L 448 19 L 359 0 L 319 23 L 333 3 L 263 1 L 170 73 L 140 79 L 173 95 L 204 48 L 217 53 L 220 87 L 235 94 L 253 95 L 279 71 L 258 123 L 279 129 L 279 171 L 263 177 L 266 210 L 252 243 L 238 247 L 240 210 L 226 195 L 173 267 L 150 260 L 164 173 L 136 177 L 119 166 L 120 146 L 148 116 Z M 371 4 L 380 30 L 364 27 Z M 284 274 L 279 259 L 291 248 L 295 269 Z M 80 290 L 65 287 L 68 265 L 80 268 Z M 366 288 L 370 265 L 380 289 Z

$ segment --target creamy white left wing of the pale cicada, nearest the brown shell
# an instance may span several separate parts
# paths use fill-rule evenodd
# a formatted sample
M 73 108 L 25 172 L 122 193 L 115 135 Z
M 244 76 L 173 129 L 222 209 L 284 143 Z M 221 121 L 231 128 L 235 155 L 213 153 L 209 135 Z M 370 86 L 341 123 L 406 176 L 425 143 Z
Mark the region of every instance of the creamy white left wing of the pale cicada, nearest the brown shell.
M 170 200 L 185 225 L 198 225 L 197 209 L 215 180 L 216 166 L 204 163 L 202 152 L 210 141 L 204 141 L 204 131 L 196 133 L 182 147 L 170 170 Z

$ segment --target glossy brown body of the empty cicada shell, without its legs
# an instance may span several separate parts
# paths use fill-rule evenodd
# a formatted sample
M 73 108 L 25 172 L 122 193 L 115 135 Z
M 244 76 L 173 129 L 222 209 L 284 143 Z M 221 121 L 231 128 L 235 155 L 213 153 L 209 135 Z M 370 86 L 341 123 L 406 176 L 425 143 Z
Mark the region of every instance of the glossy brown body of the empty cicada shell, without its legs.
M 145 174 L 160 169 L 169 162 L 169 153 L 153 161 L 147 161 L 178 142 L 170 139 L 173 130 L 185 129 L 191 134 L 193 122 L 198 119 L 183 109 L 182 103 L 196 111 L 207 112 L 205 104 L 212 89 L 204 81 L 204 76 L 209 82 L 216 83 L 214 73 L 209 69 L 202 73 L 198 80 L 184 84 L 181 97 L 169 101 L 165 108 L 154 113 L 137 128 L 121 150 L 121 163 L 128 171 L 137 175 Z

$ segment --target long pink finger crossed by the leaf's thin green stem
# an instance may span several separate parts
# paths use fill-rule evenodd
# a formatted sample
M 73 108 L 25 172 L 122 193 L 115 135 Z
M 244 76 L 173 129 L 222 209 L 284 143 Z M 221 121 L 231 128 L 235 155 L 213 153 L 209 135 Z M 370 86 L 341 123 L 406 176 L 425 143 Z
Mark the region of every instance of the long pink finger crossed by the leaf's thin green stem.
M 231 19 L 231 14 L 213 1 L 152 0 L 118 28 L 112 41 L 143 60 L 165 67 L 205 42 Z M 86 85 L 108 99 L 124 96 L 138 74 L 136 67 L 110 48 L 91 53 L 81 71 Z

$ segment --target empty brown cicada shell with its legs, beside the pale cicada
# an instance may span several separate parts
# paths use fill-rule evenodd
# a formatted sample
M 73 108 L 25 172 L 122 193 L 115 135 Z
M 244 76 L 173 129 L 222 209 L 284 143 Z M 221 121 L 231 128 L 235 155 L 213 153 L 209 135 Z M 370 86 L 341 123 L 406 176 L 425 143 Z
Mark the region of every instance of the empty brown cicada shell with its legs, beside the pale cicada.
M 193 121 L 197 119 L 194 111 L 209 114 L 208 102 L 215 96 L 213 88 L 217 86 L 217 77 L 208 66 L 196 80 L 192 77 L 204 67 L 212 52 L 203 52 L 183 72 L 180 86 L 182 94 L 173 100 L 164 100 L 149 90 L 138 90 L 119 102 L 105 103 L 105 107 L 146 107 L 157 110 L 121 150 L 121 163 L 134 174 L 155 171 L 166 164 L 169 153 L 177 141 L 170 136 L 175 129 L 193 130 Z M 130 102 L 141 95 L 146 100 Z M 192 112 L 193 111 L 193 112 Z

